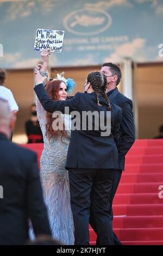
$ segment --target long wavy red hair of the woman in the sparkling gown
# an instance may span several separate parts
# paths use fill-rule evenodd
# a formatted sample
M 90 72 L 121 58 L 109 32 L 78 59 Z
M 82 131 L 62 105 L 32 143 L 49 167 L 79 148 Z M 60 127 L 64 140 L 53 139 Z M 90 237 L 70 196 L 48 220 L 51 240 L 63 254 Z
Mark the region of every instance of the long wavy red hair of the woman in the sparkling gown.
M 59 89 L 60 89 L 60 84 L 61 84 L 61 80 L 52 80 L 49 81 L 45 87 L 49 97 L 51 97 L 52 100 L 59 100 Z M 59 135 L 61 135 L 61 139 L 64 136 L 65 138 L 67 138 L 67 132 L 65 131 L 65 125 L 63 124 L 63 130 L 54 130 L 53 129 L 53 121 L 56 118 L 52 117 L 52 113 L 47 112 L 46 114 L 46 136 L 49 139 L 49 141 L 52 139 L 52 137 L 58 137 Z M 57 126 L 59 126 L 59 122 L 57 124 Z

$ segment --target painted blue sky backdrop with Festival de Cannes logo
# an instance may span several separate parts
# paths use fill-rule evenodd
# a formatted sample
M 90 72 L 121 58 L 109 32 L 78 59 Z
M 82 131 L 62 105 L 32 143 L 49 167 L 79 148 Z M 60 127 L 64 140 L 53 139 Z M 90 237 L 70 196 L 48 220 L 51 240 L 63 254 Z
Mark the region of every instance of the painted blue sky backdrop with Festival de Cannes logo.
M 61 53 L 52 66 L 84 66 L 121 62 L 162 61 L 163 0 L 36 0 L 0 2 L 3 68 L 33 68 L 37 28 L 65 31 Z

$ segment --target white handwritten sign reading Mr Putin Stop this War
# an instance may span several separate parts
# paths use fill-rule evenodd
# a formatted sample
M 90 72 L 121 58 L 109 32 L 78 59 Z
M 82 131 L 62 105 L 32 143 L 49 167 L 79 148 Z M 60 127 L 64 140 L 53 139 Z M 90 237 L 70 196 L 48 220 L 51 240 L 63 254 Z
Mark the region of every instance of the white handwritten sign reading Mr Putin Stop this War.
M 51 52 L 61 52 L 65 31 L 37 29 L 34 51 L 49 48 Z

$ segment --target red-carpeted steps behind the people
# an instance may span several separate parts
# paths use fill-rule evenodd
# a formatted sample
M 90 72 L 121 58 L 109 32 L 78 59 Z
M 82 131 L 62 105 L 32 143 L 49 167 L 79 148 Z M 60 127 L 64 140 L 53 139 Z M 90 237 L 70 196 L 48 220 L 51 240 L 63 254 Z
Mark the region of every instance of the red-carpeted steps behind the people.
M 24 147 L 40 159 L 43 144 Z M 123 245 L 163 245 L 163 139 L 136 140 L 114 199 L 113 227 Z M 90 243 L 96 234 L 90 228 Z

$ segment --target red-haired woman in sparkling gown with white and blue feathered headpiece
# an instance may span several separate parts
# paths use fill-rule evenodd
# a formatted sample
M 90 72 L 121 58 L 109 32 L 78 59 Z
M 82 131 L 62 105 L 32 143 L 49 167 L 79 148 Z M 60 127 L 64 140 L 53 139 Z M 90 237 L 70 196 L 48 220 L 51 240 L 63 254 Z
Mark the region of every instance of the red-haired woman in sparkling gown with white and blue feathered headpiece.
M 66 80 L 63 75 L 58 74 L 58 79 L 49 81 L 45 89 L 52 100 L 66 100 L 74 85 L 73 80 Z M 65 169 L 71 136 L 71 117 L 66 114 L 57 114 L 54 117 L 43 109 L 37 97 L 36 108 L 44 142 L 40 176 L 52 235 L 62 244 L 73 245 L 74 226 L 68 171 Z

